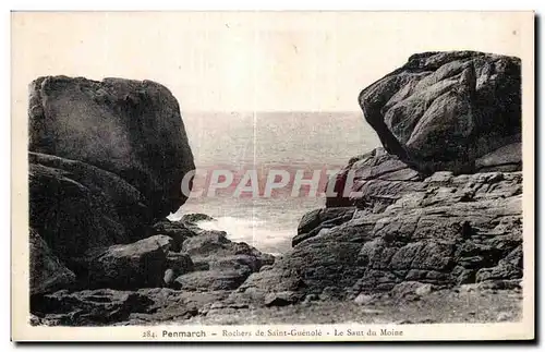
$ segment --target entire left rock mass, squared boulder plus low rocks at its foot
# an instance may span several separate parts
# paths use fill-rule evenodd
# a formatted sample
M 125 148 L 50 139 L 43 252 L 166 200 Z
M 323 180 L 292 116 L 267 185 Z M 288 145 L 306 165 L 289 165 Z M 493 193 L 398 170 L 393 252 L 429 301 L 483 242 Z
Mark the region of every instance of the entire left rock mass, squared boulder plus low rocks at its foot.
M 194 163 L 164 86 L 40 77 L 28 117 L 33 321 L 191 317 L 274 263 L 198 228 L 206 215 L 165 218 Z

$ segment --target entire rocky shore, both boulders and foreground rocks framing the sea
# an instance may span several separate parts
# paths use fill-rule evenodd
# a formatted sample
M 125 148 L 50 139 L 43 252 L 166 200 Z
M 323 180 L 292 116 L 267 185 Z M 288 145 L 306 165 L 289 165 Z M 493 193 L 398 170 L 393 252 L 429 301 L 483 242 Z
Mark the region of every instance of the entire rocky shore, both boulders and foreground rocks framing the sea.
M 206 215 L 164 218 L 194 168 L 165 87 L 68 77 L 32 87 L 33 324 L 521 317 L 517 58 L 419 53 L 365 88 L 360 105 L 384 148 L 349 161 L 332 180 L 338 196 L 302 218 L 277 258 L 199 229 Z

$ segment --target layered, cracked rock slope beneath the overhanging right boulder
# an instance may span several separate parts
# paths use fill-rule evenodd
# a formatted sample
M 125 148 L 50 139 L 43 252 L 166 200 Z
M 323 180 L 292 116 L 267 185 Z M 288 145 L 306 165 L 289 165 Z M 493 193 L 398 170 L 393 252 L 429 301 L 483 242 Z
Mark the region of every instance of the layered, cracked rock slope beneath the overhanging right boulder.
M 305 216 L 293 250 L 250 276 L 233 301 L 267 304 L 281 292 L 293 303 L 308 294 L 388 292 L 403 282 L 436 289 L 522 277 L 521 172 L 423 179 L 380 150 L 351 168 L 361 192 L 352 217 L 313 231 L 317 214 L 339 208 Z

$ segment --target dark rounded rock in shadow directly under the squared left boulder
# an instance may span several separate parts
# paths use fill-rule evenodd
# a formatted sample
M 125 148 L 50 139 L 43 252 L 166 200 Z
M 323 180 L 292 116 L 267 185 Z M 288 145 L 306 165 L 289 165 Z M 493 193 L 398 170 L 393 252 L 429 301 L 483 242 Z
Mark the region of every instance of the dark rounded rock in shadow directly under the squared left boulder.
M 28 158 L 29 223 L 69 267 L 89 248 L 142 238 L 136 226 L 145 206 L 124 180 L 75 160 Z

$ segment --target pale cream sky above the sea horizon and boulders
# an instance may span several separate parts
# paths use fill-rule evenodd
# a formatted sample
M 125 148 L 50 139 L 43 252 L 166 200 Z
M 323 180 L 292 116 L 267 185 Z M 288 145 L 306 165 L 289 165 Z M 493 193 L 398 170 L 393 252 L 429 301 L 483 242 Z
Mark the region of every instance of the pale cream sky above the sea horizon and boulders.
M 157 81 L 185 111 L 347 111 L 414 52 L 520 54 L 520 23 L 476 12 L 15 13 L 13 68 L 21 86 L 56 74 Z

